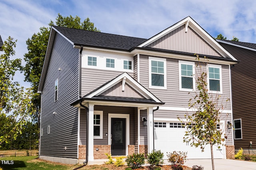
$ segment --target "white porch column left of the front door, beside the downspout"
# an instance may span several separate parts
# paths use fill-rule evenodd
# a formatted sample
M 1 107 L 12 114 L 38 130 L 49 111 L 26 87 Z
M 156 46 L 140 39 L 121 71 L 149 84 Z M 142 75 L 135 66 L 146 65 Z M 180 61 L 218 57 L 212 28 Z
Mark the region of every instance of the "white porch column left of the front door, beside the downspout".
M 94 104 L 89 104 L 89 115 L 88 115 L 88 161 L 94 161 L 93 157 L 93 113 L 94 113 Z

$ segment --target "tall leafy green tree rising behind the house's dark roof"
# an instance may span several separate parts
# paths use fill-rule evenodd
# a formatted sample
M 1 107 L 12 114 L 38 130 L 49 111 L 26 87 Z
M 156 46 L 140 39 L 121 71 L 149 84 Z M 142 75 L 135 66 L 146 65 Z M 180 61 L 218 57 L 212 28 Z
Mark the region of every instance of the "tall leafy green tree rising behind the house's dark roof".
M 89 31 L 98 31 L 99 29 L 94 27 L 94 23 L 90 22 L 89 18 L 86 18 L 83 22 L 76 16 L 63 17 L 58 14 L 56 22 L 52 20 L 48 24 L 49 26 L 56 25 L 61 27 L 69 27 L 76 29 L 84 29 Z M 32 91 L 34 92 L 32 96 L 32 102 L 34 104 L 37 113 L 32 117 L 32 119 L 37 122 L 40 115 L 40 94 L 37 93 L 38 85 L 40 81 L 40 76 L 42 72 L 42 67 L 44 64 L 44 58 L 46 54 L 46 48 L 48 44 L 48 39 L 50 35 L 50 27 L 41 27 L 40 32 L 34 33 L 31 38 L 26 41 L 28 53 L 24 55 L 25 66 L 21 69 L 25 75 L 25 81 L 30 82 L 32 86 Z

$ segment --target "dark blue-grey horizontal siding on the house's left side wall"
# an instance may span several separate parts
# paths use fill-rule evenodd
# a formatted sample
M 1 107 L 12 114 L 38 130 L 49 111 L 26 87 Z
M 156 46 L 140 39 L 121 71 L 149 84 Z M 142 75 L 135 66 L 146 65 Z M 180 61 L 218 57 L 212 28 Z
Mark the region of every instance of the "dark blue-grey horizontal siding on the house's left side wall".
M 79 50 L 56 33 L 42 89 L 42 156 L 77 158 L 78 108 L 70 104 L 78 99 L 78 59 Z M 58 100 L 55 102 L 57 79 Z M 50 134 L 47 133 L 48 126 Z

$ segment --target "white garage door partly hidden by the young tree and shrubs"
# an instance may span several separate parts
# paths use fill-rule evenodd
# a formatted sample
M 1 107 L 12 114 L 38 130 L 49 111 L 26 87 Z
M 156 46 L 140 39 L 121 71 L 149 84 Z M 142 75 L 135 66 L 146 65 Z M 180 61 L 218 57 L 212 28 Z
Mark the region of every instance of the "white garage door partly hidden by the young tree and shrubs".
M 155 150 L 161 150 L 164 153 L 164 159 L 167 159 L 167 152 L 182 151 L 188 152 L 188 159 L 208 159 L 211 158 L 210 145 L 206 146 L 204 152 L 200 148 L 190 147 L 188 143 L 183 142 L 185 128 L 178 121 L 155 121 L 154 122 L 154 146 Z M 213 146 L 214 158 L 224 158 L 225 150 L 221 146 Z

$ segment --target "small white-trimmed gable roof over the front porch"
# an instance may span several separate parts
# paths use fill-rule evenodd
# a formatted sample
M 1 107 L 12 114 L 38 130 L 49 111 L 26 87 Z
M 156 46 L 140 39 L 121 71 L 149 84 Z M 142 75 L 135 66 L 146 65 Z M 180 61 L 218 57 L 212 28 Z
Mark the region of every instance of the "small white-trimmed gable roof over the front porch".
M 112 86 L 118 84 L 119 82 L 123 82 L 122 84 L 128 84 L 131 86 L 136 92 L 138 92 L 144 98 L 131 98 L 131 97 L 120 97 L 120 96 L 101 96 L 103 92 L 111 88 Z M 128 73 L 124 72 L 117 76 L 116 78 L 102 84 L 102 86 L 96 88 L 92 92 L 83 96 L 80 100 L 72 103 L 72 106 L 78 106 L 79 102 L 83 101 L 105 101 L 105 102 L 120 102 L 120 103 L 139 103 L 139 104 L 153 104 L 154 106 L 160 106 L 164 103 L 159 100 L 154 94 L 148 91 L 144 86 L 142 86 L 139 82 L 137 82 L 134 78 L 132 78 Z

